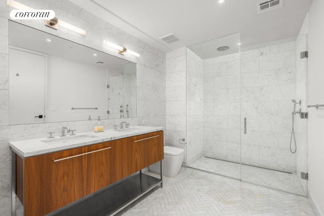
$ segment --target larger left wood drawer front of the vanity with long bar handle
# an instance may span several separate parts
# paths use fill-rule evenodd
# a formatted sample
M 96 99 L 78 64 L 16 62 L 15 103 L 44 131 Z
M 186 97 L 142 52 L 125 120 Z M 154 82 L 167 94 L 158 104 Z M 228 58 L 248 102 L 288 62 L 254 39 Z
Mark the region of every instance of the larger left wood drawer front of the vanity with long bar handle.
M 121 179 L 120 140 L 25 159 L 25 215 L 45 215 Z

